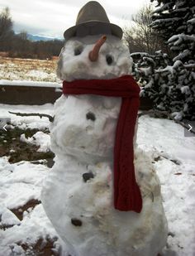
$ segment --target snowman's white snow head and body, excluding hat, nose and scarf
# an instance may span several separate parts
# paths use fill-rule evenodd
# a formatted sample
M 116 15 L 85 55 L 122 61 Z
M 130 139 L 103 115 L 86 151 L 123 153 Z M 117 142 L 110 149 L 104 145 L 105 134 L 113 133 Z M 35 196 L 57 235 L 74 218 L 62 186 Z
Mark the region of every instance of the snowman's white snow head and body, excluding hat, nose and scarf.
M 128 49 L 115 36 L 108 36 L 98 61 L 88 60 L 98 38 L 66 43 L 59 60 L 62 80 L 112 79 L 131 72 Z M 113 207 L 113 147 L 120 108 L 120 98 L 89 94 L 62 95 L 55 103 L 55 165 L 45 181 L 42 202 L 73 256 L 156 256 L 166 244 L 159 180 L 150 159 L 136 147 L 136 137 L 134 164 L 143 208 L 136 213 Z M 88 181 L 84 173 L 92 175 Z

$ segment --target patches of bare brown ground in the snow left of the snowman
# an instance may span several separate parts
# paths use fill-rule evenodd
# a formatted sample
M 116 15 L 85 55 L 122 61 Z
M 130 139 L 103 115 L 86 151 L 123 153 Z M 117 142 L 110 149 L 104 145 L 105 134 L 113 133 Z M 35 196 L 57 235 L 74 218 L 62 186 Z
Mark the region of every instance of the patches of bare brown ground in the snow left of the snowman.
M 53 152 L 37 152 L 35 145 L 30 145 L 20 141 L 20 136 L 25 133 L 26 137 L 31 137 L 35 134 L 37 129 L 26 129 L 13 128 L 4 132 L 0 130 L 0 157 L 9 157 L 10 163 L 29 161 L 36 164 L 40 163 L 38 160 L 43 160 L 43 164 L 48 167 L 53 165 Z M 49 131 L 45 130 L 45 133 Z M 36 205 L 39 205 L 40 200 L 29 200 L 25 205 L 20 206 L 17 209 L 10 209 L 14 215 L 17 215 L 19 220 L 23 219 L 23 213 L 25 211 L 34 209 Z M 9 225 L 0 225 L 0 229 L 6 230 L 12 228 Z M 55 248 L 56 239 L 51 239 L 49 236 L 44 239 L 38 239 L 36 244 L 18 244 L 25 251 L 26 256 L 57 256 L 59 253 Z M 1 254 L 1 253 L 0 253 Z

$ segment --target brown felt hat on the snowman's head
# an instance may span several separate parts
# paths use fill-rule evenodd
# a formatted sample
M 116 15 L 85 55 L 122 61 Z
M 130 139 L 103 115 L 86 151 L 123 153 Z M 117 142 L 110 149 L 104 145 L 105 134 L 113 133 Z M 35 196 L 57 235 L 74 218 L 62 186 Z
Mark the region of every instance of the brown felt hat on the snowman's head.
M 73 36 L 112 34 L 121 39 L 122 33 L 121 27 L 109 21 L 102 5 L 99 2 L 90 1 L 78 12 L 75 26 L 64 31 L 64 38 L 69 40 Z

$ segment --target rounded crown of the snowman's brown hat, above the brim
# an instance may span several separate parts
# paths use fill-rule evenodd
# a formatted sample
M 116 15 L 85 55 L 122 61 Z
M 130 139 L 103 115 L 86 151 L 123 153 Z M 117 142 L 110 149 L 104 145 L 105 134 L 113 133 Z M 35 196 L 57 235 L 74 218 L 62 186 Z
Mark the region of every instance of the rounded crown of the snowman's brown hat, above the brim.
M 99 2 L 87 2 L 78 12 L 76 25 L 89 21 L 110 22 L 106 11 Z

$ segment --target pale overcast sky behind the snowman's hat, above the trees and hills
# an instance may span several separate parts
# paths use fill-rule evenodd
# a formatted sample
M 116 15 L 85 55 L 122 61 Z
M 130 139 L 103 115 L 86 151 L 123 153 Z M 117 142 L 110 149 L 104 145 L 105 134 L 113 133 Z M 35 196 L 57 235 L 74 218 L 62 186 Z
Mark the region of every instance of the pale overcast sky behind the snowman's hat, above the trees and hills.
M 33 35 L 63 37 L 63 33 L 76 22 L 78 11 L 88 0 L 0 0 L 0 11 L 9 7 L 14 31 L 27 31 Z M 110 22 L 128 26 L 132 14 L 150 0 L 99 0 Z

